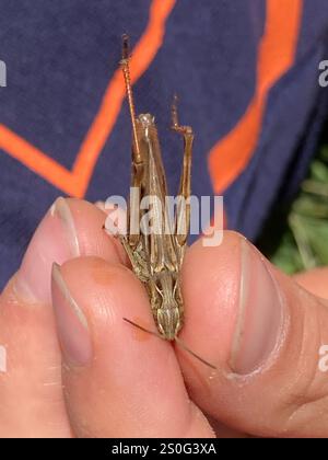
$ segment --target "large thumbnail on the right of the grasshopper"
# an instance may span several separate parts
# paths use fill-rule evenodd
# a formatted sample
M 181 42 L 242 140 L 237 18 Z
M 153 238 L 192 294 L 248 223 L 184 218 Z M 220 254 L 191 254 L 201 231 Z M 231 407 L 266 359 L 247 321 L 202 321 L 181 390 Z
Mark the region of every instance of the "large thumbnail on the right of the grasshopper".
M 239 375 L 263 366 L 280 342 L 282 296 L 260 254 L 242 240 L 242 269 L 231 368 Z

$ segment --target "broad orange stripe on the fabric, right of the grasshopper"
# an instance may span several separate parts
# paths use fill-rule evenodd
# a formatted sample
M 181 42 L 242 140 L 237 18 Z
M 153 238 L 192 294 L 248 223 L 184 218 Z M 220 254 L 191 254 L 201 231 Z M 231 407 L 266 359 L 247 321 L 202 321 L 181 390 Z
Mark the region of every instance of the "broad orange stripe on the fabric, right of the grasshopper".
M 294 64 L 302 13 L 303 0 L 267 0 L 255 95 L 234 129 L 209 153 L 209 169 L 216 194 L 231 185 L 247 166 L 258 145 L 268 93 Z

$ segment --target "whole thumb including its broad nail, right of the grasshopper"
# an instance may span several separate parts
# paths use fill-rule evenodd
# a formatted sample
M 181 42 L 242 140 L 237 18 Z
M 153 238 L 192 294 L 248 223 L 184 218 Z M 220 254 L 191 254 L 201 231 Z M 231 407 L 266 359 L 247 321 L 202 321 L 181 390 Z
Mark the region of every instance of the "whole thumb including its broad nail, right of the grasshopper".
M 233 232 L 219 248 L 191 246 L 184 295 L 183 340 L 218 367 L 211 373 L 179 353 L 196 404 L 256 436 L 328 436 L 326 300 Z

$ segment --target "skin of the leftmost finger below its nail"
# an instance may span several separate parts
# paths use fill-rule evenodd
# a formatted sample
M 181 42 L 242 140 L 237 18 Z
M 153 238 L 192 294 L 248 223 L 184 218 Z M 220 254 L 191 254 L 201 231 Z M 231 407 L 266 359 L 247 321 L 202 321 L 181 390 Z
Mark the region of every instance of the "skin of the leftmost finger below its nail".
M 7 352 L 7 371 L 0 372 L 0 438 L 70 437 L 52 311 L 22 301 L 14 279 L 0 299 L 0 344 Z

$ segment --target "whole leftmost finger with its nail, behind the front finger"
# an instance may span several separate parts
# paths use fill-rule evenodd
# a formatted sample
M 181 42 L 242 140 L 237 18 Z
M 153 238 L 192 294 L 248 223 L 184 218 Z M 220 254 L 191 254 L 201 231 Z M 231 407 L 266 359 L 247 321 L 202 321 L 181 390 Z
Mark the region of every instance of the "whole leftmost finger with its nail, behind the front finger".
M 80 254 L 120 261 L 120 249 L 102 229 L 106 216 L 86 202 L 66 203 L 74 220 Z M 0 437 L 71 436 L 50 304 L 52 262 L 74 256 L 68 238 L 65 222 L 52 206 L 38 226 L 22 267 L 0 296 L 0 346 L 7 354 L 7 371 L 0 371 Z M 24 272 L 27 276 L 22 289 Z

